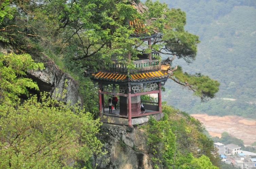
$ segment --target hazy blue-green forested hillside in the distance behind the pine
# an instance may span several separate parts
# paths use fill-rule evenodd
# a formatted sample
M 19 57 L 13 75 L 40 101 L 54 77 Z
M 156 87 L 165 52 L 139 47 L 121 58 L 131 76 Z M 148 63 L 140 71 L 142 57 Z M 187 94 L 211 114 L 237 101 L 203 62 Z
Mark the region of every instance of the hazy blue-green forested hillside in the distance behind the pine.
M 256 2 L 161 2 L 185 11 L 185 29 L 201 41 L 192 64 L 177 60 L 173 65 L 182 65 L 189 73 L 205 72 L 221 83 L 216 98 L 202 103 L 192 92 L 168 81 L 164 100 L 189 113 L 256 118 Z

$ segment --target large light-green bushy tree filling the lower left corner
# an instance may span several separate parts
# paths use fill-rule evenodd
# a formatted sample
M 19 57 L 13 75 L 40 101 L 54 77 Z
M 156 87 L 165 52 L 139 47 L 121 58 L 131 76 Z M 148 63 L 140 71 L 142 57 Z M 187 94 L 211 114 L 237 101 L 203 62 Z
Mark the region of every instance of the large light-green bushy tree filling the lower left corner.
M 100 153 L 99 119 L 78 106 L 41 95 L 0 105 L 0 167 L 61 168 Z

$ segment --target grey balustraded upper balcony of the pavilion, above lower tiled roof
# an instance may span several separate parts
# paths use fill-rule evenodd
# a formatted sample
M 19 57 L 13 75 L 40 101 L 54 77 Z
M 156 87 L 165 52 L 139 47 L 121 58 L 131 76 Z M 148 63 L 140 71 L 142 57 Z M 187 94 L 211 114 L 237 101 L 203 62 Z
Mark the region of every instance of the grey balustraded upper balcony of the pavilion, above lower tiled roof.
M 130 70 L 130 73 L 135 72 L 143 72 L 143 71 L 149 71 L 149 70 L 159 70 L 161 69 L 161 62 L 154 58 L 154 56 L 158 55 L 158 52 L 152 52 L 152 59 L 148 59 L 148 54 L 140 54 L 138 55 L 139 59 L 136 61 L 133 61 L 133 65 L 135 69 Z M 111 72 L 121 72 L 121 73 L 127 73 L 128 69 L 126 64 L 120 63 L 118 61 L 112 61 L 112 64 L 109 64 L 107 67 L 102 68 L 102 70 L 111 71 Z

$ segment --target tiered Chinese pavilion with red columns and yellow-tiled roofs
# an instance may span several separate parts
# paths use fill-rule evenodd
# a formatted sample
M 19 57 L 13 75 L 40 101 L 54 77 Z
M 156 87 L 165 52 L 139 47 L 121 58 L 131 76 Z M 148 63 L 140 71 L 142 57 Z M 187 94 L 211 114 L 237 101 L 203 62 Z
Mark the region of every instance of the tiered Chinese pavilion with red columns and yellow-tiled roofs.
M 129 24 L 134 26 L 136 21 L 130 21 Z M 133 37 L 147 41 L 148 47 L 151 48 L 151 41 L 156 37 L 156 33 L 148 35 L 147 32 L 135 27 L 135 32 L 131 35 L 131 38 Z M 113 59 L 112 64 L 92 75 L 91 79 L 99 86 L 99 116 L 103 122 L 132 127 L 132 125 L 147 122 L 149 115 L 160 119 L 162 116 L 161 86 L 168 79 L 169 66 L 161 65 L 161 62 L 155 58 L 156 55 L 159 53 L 144 54 L 142 52 L 138 55 L 139 59 L 133 61 L 135 69 L 130 70 L 129 73 L 125 64 Z M 127 57 L 129 60 L 130 54 Z M 158 102 L 141 100 L 142 95 L 148 94 L 157 94 Z M 120 109 L 113 111 L 113 114 L 105 111 L 104 95 L 119 96 Z M 142 102 L 145 111 L 141 111 Z

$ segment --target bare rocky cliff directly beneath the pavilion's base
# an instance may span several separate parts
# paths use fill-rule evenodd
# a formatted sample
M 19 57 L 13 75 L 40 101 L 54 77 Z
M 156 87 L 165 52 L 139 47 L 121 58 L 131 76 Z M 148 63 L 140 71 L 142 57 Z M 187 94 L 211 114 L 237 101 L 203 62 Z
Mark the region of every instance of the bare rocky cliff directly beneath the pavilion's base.
M 93 159 L 98 169 L 151 169 L 145 132 L 139 127 L 128 130 L 125 126 L 103 124 L 99 139 L 106 154 Z

